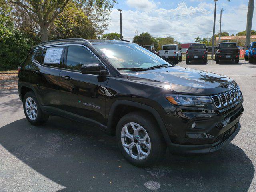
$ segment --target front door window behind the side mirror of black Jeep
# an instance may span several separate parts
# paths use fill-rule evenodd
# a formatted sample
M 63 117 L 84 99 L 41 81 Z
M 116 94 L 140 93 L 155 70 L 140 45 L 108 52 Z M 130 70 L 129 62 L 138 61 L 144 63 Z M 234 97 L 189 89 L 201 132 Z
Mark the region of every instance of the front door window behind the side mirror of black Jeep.
M 80 70 L 83 64 L 100 63 L 99 60 L 82 46 L 68 46 L 66 68 Z

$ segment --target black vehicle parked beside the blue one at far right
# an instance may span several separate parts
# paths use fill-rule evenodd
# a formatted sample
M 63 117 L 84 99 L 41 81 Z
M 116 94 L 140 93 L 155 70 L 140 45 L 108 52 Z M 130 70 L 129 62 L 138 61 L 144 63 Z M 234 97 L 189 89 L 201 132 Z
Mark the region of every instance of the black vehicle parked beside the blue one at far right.
M 230 60 L 239 63 L 240 50 L 236 43 L 220 43 L 215 52 L 215 61 L 219 63 L 220 60 Z

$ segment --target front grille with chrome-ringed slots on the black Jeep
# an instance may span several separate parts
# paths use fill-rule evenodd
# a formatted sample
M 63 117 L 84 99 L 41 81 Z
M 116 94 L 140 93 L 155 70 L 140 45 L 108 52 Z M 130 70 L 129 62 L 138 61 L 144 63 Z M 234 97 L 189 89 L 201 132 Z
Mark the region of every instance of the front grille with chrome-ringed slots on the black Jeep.
M 217 108 L 228 106 L 228 104 L 232 104 L 236 100 L 238 100 L 241 96 L 241 90 L 239 86 L 236 86 L 236 88 L 226 92 L 226 93 L 221 93 L 219 95 L 213 95 L 212 100 L 214 102 L 214 105 Z

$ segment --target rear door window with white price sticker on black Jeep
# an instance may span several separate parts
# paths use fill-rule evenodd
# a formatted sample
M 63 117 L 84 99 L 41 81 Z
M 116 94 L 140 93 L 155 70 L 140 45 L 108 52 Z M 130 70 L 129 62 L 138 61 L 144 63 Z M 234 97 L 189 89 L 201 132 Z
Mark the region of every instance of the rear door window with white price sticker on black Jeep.
M 54 67 L 62 67 L 62 53 L 64 47 L 48 47 L 44 48 L 42 54 L 42 62 L 44 65 L 54 66 Z

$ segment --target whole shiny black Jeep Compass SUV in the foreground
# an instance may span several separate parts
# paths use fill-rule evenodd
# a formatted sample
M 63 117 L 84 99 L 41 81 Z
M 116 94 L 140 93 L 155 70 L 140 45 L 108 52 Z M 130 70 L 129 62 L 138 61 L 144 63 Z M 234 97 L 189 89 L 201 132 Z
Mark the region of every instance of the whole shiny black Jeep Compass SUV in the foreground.
M 117 40 L 42 42 L 18 68 L 31 124 L 62 116 L 116 136 L 125 158 L 148 166 L 174 153 L 209 153 L 240 130 L 243 96 L 226 76 L 173 65 Z

